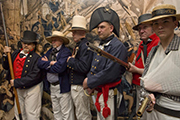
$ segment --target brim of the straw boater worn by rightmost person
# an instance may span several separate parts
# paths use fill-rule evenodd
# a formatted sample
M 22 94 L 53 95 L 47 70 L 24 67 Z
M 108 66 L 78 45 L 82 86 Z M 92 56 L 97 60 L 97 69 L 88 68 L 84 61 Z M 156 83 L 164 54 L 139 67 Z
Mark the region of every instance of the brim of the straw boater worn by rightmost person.
M 143 21 L 142 23 L 152 22 L 152 21 L 154 21 L 154 20 L 158 20 L 158 19 L 166 18 L 166 17 L 176 17 L 176 20 L 177 20 L 177 21 L 180 20 L 180 14 L 161 15 L 161 16 L 156 16 L 156 17 L 153 17 L 153 18 L 151 18 L 151 19 L 145 20 L 145 21 Z

